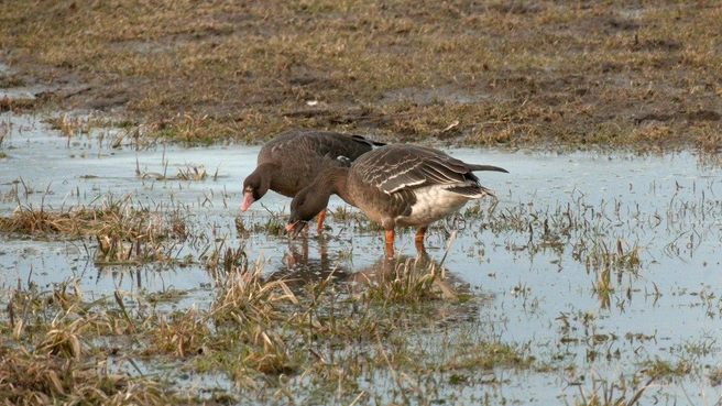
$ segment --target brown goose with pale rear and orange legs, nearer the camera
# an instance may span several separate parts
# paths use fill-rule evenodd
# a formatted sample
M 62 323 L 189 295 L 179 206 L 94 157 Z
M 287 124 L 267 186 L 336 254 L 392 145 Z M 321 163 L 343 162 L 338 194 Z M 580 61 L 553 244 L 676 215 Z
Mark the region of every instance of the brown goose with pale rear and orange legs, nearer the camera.
M 481 186 L 474 171 L 507 172 L 497 166 L 467 164 L 446 153 L 417 145 L 386 145 L 351 164 L 324 171 L 291 202 L 286 230 L 296 237 L 304 224 L 336 194 L 386 231 L 385 254 L 393 255 L 394 228 L 418 227 L 415 242 L 424 250 L 427 226 L 459 210 L 467 201 L 493 191 Z

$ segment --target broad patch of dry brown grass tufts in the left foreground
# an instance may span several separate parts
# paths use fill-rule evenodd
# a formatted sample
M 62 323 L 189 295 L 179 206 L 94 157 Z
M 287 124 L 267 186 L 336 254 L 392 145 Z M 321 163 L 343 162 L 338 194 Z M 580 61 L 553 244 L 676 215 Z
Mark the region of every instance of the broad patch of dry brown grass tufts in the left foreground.
M 380 277 L 378 283 L 385 287 L 379 289 L 383 290 L 375 293 L 370 288 L 358 295 L 343 293 L 343 286 L 330 279 L 294 293 L 283 279 L 264 279 L 261 265 L 259 261 L 248 268 L 232 267 L 225 273 L 208 309 L 165 311 L 152 298 L 123 292 L 88 303 L 72 279 L 52 292 L 32 285 L 11 289 L 9 319 L 0 327 L 0 369 L 4 376 L 0 380 L 0 393 L 20 404 L 51 399 L 117 404 L 121 398 L 164 404 L 204 398 L 200 393 L 172 391 L 165 380 L 172 381 L 173 376 L 145 375 L 138 366 L 124 373 L 108 367 L 111 358 L 119 358 L 113 364 L 131 365 L 152 360 L 185 360 L 186 372 L 228 376 L 236 391 L 240 391 L 225 395 L 231 398 L 239 394 L 272 397 L 273 392 L 283 388 L 276 380 L 287 376 L 293 385 L 313 384 L 317 391 L 325 391 L 324 382 L 330 378 L 333 385 L 341 385 L 337 387 L 339 399 L 352 400 L 359 396 L 360 382 L 371 371 L 411 376 L 422 373 L 420 365 L 430 370 L 472 367 L 470 363 L 474 361 L 464 361 L 469 366 L 460 366 L 458 361 L 449 363 L 437 355 L 429 363 L 429 352 L 441 348 L 430 345 L 426 355 L 411 350 L 416 347 L 413 338 L 419 328 L 429 332 L 438 329 L 435 323 L 442 319 L 434 314 L 439 306 L 448 307 L 445 319 L 455 311 L 463 319 L 479 305 L 469 307 L 470 295 L 466 300 L 445 300 L 431 294 L 435 284 L 426 281 L 438 279 L 434 273 L 424 276 L 424 283 L 414 279 L 414 289 L 406 288 L 409 282 L 404 283 L 401 292 L 405 295 L 382 299 L 380 295 L 398 289 L 398 277 L 418 270 L 401 270 L 411 265 L 398 264 L 396 276 Z M 428 301 L 429 297 L 435 299 Z M 481 350 L 472 352 L 478 353 L 478 360 L 483 359 L 484 365 L 504 365 L 507 361 L 502 361 L 502 356 L 514 356 L 511 348 L 489 350 L 486 355 Z M 407 385 L 398 384 L 395 396 L 403 399 Z M 95 389 L 88 391 L 90 387 Z M 426 391 L 416 396 L 426 398 Z M 295 399 L 294 392 L 285 396 Z

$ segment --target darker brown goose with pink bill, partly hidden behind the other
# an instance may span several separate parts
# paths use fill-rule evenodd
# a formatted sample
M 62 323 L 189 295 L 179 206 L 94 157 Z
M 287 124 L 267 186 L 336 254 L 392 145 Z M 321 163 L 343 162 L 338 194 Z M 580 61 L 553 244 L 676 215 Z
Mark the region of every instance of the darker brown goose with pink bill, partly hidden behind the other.
M 347 135 L 316 129 L 291 129 L 276 134 L 263 144 L 255 169 L 243 180 L 245 211 L 269 190 L 294 197 L 308 186 L 324 169 L 349 166 L 352 161 L 384 145 L 361 135 Z M 320 231 L 326 210 L 320 211 L 317 230 Z

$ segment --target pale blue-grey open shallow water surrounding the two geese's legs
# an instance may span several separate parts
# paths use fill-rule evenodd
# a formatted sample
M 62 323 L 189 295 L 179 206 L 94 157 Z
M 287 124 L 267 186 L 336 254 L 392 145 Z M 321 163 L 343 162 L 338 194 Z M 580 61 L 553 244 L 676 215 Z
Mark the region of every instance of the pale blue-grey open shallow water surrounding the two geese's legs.
M 136 151 L 125 143 L 112 149 L 114 130 L 106 130 L 100 142 L 98 134 L 61 136 L 31 117 L 4 113 L 0 122 L 6 129 L 0 151 L 7 155 L 0 157 L 2 216 L 10 216 L 18 205 L 68 210 L 130 198 L 133 205 L 153 210 L 182 207 L 196 232 L 222 237 L 229 246 L 242 245 L 249 261 L 260 260 L 269 273 L 303 271 L 321 278 L 338 268 L 353 274 L 382 255 L 380 232 L 354 232 L 353 227 L 332 221 L 322 241 L 310 231 L 307 253 L 303 241 L 288 243 L 265 233 L 239 235 L 237 218 L 251 224 L 289 204 L 288 198 L 270 193 L 262 205 L 239 212 L 241 184 L 255 165 L 259 146 L 157 144 Z M 635 363 L 641 359 L 676 363 L 692 358 L 708 365 L 710 375 L 718 373 L 722 367 L 719 157 L 691 152 L 448 152 L 468 162 L 503 166 L 510 174 L 481 174 L 482 184 L 499 197 L 491 219 L 457 217 L 439 222 L 427 237 L 431 259 L 444 259 L 449 277 L 490 298 L 474 309 L 474 317 L 491 327 L 484 334 L 528 343 L 537 360 L 564 360 L 575 366 L 568 374 L 500 369 L 493 372 L 493 385 L 463 387 L 461 398 L 491 394 L 521 404 L 572 403 L 580 387 L 591 389 L 594 376 L 611 381 L 633 376 L 645 367 Z M 176 178 L 179 171 L 198 165 L 208 172 L 206 179 Z M 340 205 L 340 199 L 331 199 L 331 209 Z M 490 200 L 466 209 L 478 205 L 485 211 Z M 547 232 L 542 231 L 545 220 Z M 519 221 L 528 222 L 532 230 L 502 227 Z M 582 223 L 589 227 L 573 227 Z M 453 232 L 456 239 L 446 253 Z M 43 241 L 3 233 L 0 243 L 3 290 L 31 281 L 48 286 L 76 276 L 84 292 L 98 297 L 114 289 L 188 290 L 173 303 L 176 308 L 207 306 L 214 293 L 214 278 L 198 264 L 160 270 L 97 266 L 91 240 Z M 396 249 L 413 255 L 413 233 L 397 237 Z M 639 262 L 595 264 L 593 259 L 605 250 L 636 252 Z M 174 253 L 183 257 L 198 251 L 180 246 Z M 594 289 L 604 268 L 611 274 L 609 295 Z M 714 404 L 720 388 L 707 373 L 655 384 L 644 398 Z

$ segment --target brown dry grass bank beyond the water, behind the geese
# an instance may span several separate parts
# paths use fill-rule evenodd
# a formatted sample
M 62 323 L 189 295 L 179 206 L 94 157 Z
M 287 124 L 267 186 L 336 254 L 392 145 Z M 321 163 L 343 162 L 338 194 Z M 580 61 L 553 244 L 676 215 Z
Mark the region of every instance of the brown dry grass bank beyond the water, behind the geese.
M 122 107 L 182 142 L 309 125 L 720 149 L 713 1 L 10 1 L 0 15 L 0 84 L 58 84 L 35 105 Z

